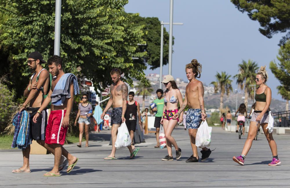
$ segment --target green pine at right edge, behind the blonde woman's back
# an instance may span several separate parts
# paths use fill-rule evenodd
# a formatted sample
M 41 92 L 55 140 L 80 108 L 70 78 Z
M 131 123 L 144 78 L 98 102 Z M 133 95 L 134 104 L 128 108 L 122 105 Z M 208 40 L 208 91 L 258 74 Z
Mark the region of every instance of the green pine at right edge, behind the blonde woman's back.
M 277 64 L 275 61 L 271 61 L 270 69 L 281 83 L 281 86 L 277 87 L 278 93 L 286 100 L 286 106 L 288 106 L 288 101 L 290 100 L 290 40 L 280 47 L 278 54 L 277 59 L 280 63 Z

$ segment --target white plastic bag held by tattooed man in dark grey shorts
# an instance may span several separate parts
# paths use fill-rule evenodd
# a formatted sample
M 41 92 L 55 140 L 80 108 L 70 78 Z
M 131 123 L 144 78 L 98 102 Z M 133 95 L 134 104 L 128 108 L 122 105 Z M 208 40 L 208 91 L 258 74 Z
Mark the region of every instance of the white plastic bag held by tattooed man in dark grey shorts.
M 129 145 L 131 145 L 131 138 L 129 131 L 127 129 L 125 121 L 121 124 L 121 126 L 118 128 L 118 134 L 117 134 L 117 140 L 115 142 L 116 148 L 124 148 Z

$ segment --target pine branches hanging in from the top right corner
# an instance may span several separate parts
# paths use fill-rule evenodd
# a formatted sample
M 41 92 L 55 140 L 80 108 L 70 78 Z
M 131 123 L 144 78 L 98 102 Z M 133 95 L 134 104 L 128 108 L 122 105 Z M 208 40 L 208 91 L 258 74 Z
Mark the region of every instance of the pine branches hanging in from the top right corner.
M 252 20 L 257 20 L 262 28 L 261 34 L 272 38 L 279 32 L 287 34 L 282 37 L 279 45 L 290 38 L 290 0 L 231 0 L 240 12 L 248 12 Z

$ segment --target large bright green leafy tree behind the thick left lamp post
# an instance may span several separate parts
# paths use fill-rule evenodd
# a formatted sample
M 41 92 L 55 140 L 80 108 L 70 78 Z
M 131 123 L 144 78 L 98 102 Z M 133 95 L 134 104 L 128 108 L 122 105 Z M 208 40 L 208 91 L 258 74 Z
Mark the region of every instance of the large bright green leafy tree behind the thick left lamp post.
M 145 44 L 144 25 L 134 25 L 138 14 L 125 16 L 126 3 L 128 0 L 62 1 L 60 55 L 66 72 L 77 74 L 80 67 L 81 73 L 99 87 L 99 83 L 107 86 L 111 82 L 112 68 L 121 69 L 129 84 L 132 78 L 148 82 L 146 64 L 132 60 L 147 53 L 137 51 L 137 44 Z M 9 15 L 0 25 L 1 46 L 9 49 L 8 63 L 21 64 L 18 76 L 28 80 L 31 71 L 26 60 L 30 52 L 39 51 L 44 59 L 54 55 L 55 1 L 3 1 L 0 14 Z

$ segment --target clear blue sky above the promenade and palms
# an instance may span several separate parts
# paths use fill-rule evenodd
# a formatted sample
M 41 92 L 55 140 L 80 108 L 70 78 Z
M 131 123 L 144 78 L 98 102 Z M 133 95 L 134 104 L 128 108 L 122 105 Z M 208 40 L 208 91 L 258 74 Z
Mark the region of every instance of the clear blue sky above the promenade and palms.
M 143 17 L 158 17 L 169 22 L 169 0 L 129 0 L 125 11 L 139 13 Z M 205 84 L 215 81 L 216 72 L 226 71 L 230 75 L 238 73 L 238 64 L 251 59 L 259 66 L 267 65 L 268 86 L 272 97 L 281 99 L 276 87 L 280 84 L 269 69 L 271 60 L 276 58 L 282 34 L 269 39 L 258 31 L 258 21 L 251 20 L 246 13 L 235 8 L 230 0 L 192 1 L 175 0 L 173 22 L 184 25 L 173 26 L 175 37 L 172 55 L 172 75 L 187 80 L 184 67 L 192 59 L 202 64 L 200 80 Z M 165 26 L 169 31 L 169 26 Z M 160 73 L 160 69 L 145 71 Z M 168 74 L 168 65 L 163 66 L 163 74 Z M 237 88 L 233 80 L 233 89 Z

